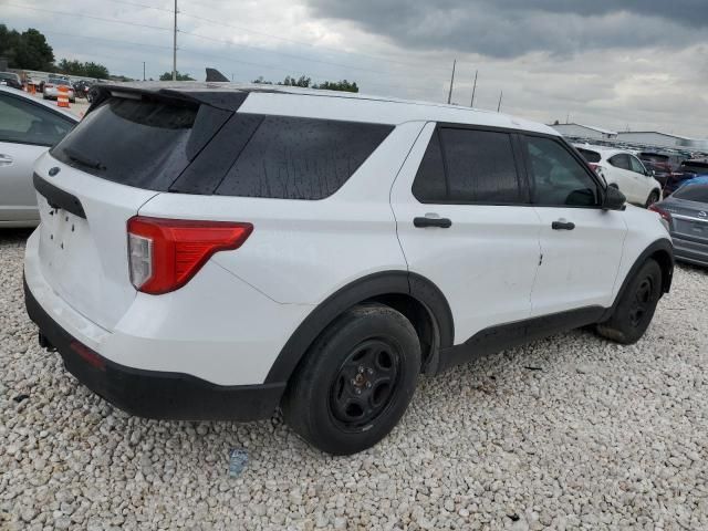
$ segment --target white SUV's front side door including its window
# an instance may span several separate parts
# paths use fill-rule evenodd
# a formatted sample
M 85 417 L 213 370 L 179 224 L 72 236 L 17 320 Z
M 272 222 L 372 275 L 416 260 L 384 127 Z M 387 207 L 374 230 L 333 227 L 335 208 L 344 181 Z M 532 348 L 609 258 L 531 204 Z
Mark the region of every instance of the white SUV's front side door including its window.
M 602 185 L 562 139 L 525 135 L 522 146 L 541 220 L 532 316 L 608 308 L 627 231 L 624 212 L 602 209 Z

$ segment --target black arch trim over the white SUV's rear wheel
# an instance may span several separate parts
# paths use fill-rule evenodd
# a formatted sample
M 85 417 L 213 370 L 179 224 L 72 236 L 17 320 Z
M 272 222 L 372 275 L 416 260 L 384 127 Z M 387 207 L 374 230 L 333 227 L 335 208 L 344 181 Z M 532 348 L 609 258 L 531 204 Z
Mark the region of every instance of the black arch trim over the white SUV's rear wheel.
M 437 324 L 438 347 L 452 346 L 452 312 L 439 288 L 416 273 L 383 271 L 346 284 L 312 310 L 281 348 L 264 383 L 288 382 L 310 345 L 339 315 L 367 299 L 387 294 L 409 295 L 421 303 Z

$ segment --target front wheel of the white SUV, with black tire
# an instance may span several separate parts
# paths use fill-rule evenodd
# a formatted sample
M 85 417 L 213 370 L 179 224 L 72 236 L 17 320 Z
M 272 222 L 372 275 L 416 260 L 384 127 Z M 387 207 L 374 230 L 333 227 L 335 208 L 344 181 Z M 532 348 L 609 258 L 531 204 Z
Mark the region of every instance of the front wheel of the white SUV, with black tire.
M 649 326 L 660 296 L 662 269 L 649 259 L 627 284 L 612 317 L 597 325 L 597 333 L 624 345 L 636 343 Z

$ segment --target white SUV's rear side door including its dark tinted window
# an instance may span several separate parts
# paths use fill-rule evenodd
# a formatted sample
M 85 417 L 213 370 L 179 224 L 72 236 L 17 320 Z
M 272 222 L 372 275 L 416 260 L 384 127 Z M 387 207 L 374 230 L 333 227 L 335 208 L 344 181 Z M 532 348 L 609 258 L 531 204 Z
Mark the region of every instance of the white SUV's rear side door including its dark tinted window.
M 426 125 L 392 188 L 408 269 L 433 281 L 455 344 L 524 320 L 539 264 L 539 218 L 513 134 Z

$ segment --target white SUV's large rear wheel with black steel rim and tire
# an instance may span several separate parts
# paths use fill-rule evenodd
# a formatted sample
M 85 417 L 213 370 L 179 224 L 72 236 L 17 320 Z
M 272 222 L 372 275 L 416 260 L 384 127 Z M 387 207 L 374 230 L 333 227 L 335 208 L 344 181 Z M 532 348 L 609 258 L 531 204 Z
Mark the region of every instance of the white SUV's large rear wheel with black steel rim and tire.
M 283 417 L 320 450 L 356 454 L 398 424 L 419 372 L 410 322 L 385 305 L 354 306 L 308 350 L 283 396 Z

